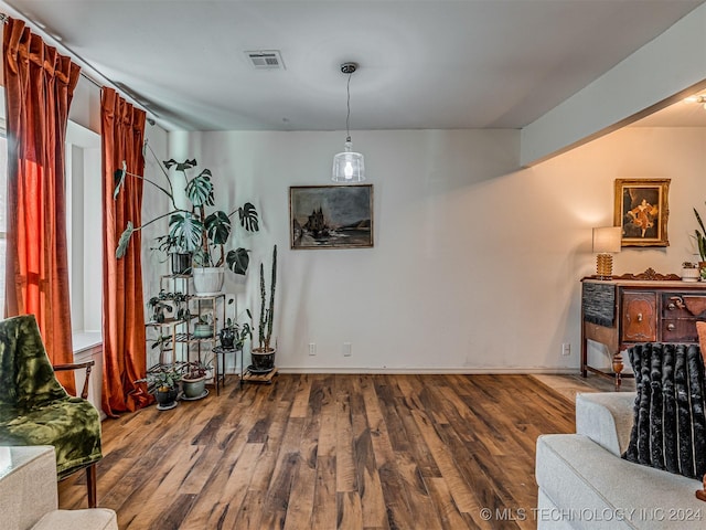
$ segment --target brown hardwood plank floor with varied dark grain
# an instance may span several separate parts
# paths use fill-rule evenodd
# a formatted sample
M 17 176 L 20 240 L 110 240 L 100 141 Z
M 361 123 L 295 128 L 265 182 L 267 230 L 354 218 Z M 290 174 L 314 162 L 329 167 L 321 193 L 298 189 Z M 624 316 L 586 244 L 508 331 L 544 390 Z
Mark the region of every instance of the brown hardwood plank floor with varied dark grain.
M 229 379 L 105 421 L 98 505 L 130 530 L 536 528 L 536 437 L 569 432 L 573 403 L 530 375 Z M 83 477 L 61 508 L 86 507 Z

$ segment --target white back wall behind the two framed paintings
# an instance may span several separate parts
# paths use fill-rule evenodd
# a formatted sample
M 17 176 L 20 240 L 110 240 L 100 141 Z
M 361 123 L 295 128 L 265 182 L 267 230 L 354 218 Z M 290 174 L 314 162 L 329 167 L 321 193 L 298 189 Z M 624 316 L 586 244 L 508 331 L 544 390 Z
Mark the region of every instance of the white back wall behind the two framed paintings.
M 591 227 L 612 224 L 613 180 L 672 179 L 672 245 L 625 250 L 616 272 L 677 273 L 693 258 L 692 206 L 706 212 L 706 130 L 623 129 L 515 171 L 517 139 L 355 132 L 374 184 L 375 247 L 334 251 L 289 248 L 288 188 L 330 183 L 340 132 L 194 132 L 176 144 L 213 171 L 221 206 L 253 201 L 261 213 L 264 230 L 240 242 L 253 248 L 240 305 L 255 315 L 258 264 L 279 245 L 281 369 L 576 370 L 579 279 L 595 269 Z

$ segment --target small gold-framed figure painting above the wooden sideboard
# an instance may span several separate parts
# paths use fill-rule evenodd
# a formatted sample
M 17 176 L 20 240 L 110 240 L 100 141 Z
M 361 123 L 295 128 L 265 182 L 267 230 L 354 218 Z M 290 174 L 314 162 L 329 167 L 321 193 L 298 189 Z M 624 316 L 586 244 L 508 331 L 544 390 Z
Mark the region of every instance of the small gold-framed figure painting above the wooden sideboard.
M 670 246 L 670 179 L 616 179 L 614 224 L 622 246 Z

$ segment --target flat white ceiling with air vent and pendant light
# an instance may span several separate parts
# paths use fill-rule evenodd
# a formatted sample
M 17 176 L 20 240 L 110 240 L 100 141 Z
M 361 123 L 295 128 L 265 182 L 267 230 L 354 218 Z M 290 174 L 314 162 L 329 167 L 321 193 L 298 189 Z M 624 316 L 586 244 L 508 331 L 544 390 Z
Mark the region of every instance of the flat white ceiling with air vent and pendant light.
M 2 3 L 169 129 L 340 130 L 344 61 L 361 65 L 351 129 L 521 128 L 704 0 Z M 249 50 L 286 70 L 254 70 Z

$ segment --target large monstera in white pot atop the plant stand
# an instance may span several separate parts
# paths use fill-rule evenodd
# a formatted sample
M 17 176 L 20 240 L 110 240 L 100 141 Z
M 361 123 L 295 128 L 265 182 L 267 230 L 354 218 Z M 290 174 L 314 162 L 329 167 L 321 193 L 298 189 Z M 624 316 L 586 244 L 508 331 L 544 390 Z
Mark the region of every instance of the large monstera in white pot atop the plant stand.
M 243 206 L 236 208 L 231 213 L 223 210 L 208 211 L 208 206 L 215 204 L 214 187 L 211 181 L 211 170 L 203 169 L 195 177 L 189 177 L 188 171 L 196 167 L 196 160 L 184 160 L 176 162 L 174 159 L 163 162 L 160 166 L 164 178 L 165 186 L 141 177 L 139 174 L 129 173 L 124 165 L 122 169 L 115 172 L 116 188 L 114 197 L 120 193 L 125 186 L 127 177 L 142 179 L 159 189 L 169 197 L 171 210 L 167 213 L 142 223 L 140 226 L 133 226 L 128 221 L 127 227 L 122 232 L 116 248 L 116 257 L 120 258 L 125 255 L 132 233 L 142 230 L 145 226 L 153 222 L 169 218 L 169 237 L 164 244 L 178 245 L 184 252 L 193 254 L 192 273 L 194 276 L 194 288 L 197 294 L 213 295 L 221 292 L 223 286 L 224 267 L 233 271 L 235 274 L 245 275 L 249 264 L 248 251 L 237 247 L 229 250 L 226 254 L 225 245 L 229 242 L 233 225 L 231 218 L 237 213 L 240 225 L 248 232 L 257 232 L 259 230 L 259 221 L 255 206 L 246 202 Z M 178 205 L 174 199 L 174 188 L 169 174 L 169 170 L 174 168 L 183 176 L 185 182 L 184 194 L 189 202 L 185 208 Z M 205 278 L 215 277 L 213 284 L 205 283 Z

